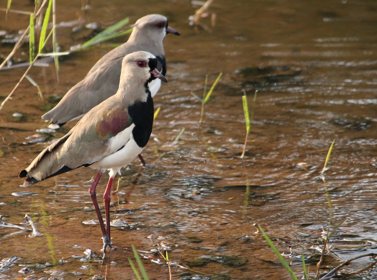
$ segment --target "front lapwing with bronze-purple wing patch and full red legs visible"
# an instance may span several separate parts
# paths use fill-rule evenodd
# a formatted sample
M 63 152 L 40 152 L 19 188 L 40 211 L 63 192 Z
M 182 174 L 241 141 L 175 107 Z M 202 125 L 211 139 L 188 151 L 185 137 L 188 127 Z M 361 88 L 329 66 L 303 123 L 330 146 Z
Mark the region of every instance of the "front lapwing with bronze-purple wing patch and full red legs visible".
M 26 178 L 24 186 L 81 166 L 98 170 L 89 188 L 103 235 L 103 251 L 113 249 L 110 242 L 111 185 L 116 173 L 143 151 L 153 124 L 153 99 L 148 87 L 156 78 L 167 82 L 156 69 L 158 60 L 149 52 L 138 51 L 121 60 L 118 91 L 91 109 L 66 135 L 44 149 L 18 175 Z M 114 61 L 116 63 L 116 60 Z M 104 192 L 106 229 L 98 207 L 96 187 L 101 175 L 109 172 Z

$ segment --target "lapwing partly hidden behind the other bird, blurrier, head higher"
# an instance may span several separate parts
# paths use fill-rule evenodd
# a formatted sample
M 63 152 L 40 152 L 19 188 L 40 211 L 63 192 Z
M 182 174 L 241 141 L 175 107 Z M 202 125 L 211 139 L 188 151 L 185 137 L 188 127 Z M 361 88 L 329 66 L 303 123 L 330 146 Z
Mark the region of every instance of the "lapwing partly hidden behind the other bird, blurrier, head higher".
M 86 77 L 73 86 L 60 102 L 42 116 L 49 122 L 49 128 L 58 128 L 70 120 L 81 118 L 94 106 L 114 95 L 118 90 L 121 60 L 115 58 L 136 51 L 146 51 L 158 60 L 157 70 L 166 74 L 166 62 L 162 41 L 166 34 L 180 35 L 167 24 L 163 15 L 152 14 L 139 18 L 133 25 L 132 33 L 126 43 L 104 55 L 90 69 Z M 150 83 L 152 97 L 161 86 L 160 80 Z

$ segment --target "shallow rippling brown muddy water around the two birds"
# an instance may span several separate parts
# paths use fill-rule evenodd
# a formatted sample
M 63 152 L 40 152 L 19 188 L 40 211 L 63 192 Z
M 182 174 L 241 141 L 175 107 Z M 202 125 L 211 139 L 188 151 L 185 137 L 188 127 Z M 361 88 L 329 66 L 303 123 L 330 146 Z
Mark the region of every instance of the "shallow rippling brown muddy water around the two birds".
M 32 11 L 32 3 L 12 5 Z M 329 221 L 334 228 L 347 218 L 329 242 L 321 272 L 377 252 L 376 3 L 215 0 L 210 12 L 217 15 L 216 26 L 201 19 L 210 33 L 189 26 L 189 15 L 198 8 L 189 1 L 92 1 L 86 12 L 77 1 L 57 5 L 57 22 L 82 19 L 104 28 L 127 15 L 135 22 L 160 13 L 182 35 L 165 39 L 169 83 L 155 97 L 161 111 L 143 151 L 149 166 L 141 168 L 135 160 L 125 168 L 112 196 L 111 219 L 121 226 L 112 227 L 116 249 L 106 263 L 83 253 L 90 247 L 101 255 L 101 232 L 90 223 L 96 215 L 87 193 L 95 171 L 81 168 L 27 189 L 20 187 L 17 174 L 74 125 L 37 132 L 46 125 L 40 116 L 56 102 L 51 97 L 64 95 L 126 38 L 64 58 L 59 83 L 54 66 L 35 67 L 30 76 L 44 99 L 23 82 L 6 103 L 0 112 L 0 214 L 18 225 L 28 213 L 43 236 L 0 228 L 1 259 L 17 257 L 2 262 L 0 278 L 134 279 L 127 260 L 133 258 L 134 244 L 150 256 L 143 265 L 152 279 L 169 279 L 166 262 L 154 252 L 158 248 L 169 248 L 169 259 L 179 263 L 172 265 L 173 279 L 290 279 L 255 234 L 256 222 L 280 252 L 289 252 L 289 246 L 296 255 L 303 252 L 312 276 Z M 1 29 L 15 34 L 28 17 L 11 14 L 1 23 Z M 84 42 L 87 34 L 59 28 L 61 50 Z M 11 48 L 3 43 L 1 54 Z M 16 58 L 26 56 L 20 52 Z M 0 73 L 2 100 L 24 71 Z M 211 84 L 219 72 L 224 75 L 200 125 L 201 104 L 191 93 L 202 95 L 205 75 Z M 242 160 L 243 89 L 250 108 L 255 89 L 258 95 Z M 323 180 L 320 172 L 333 139 Z M 100 184 L 99 197 L 106 177 Z M 301 277 L 300 259 L 286 254 L 286 260 Z M 25 268 L 30 271 L 21 271 Z M 377 278 L 369 258 L 340 272 L 342 279 Z

